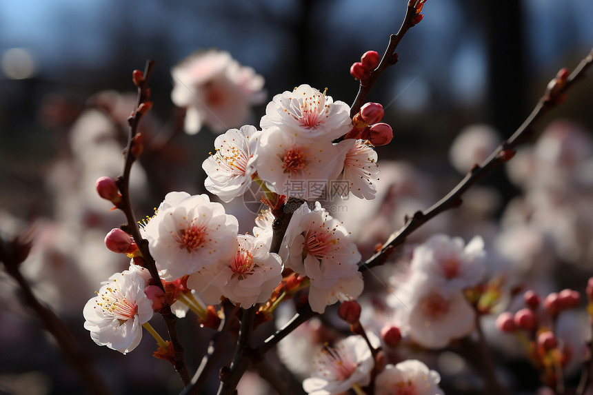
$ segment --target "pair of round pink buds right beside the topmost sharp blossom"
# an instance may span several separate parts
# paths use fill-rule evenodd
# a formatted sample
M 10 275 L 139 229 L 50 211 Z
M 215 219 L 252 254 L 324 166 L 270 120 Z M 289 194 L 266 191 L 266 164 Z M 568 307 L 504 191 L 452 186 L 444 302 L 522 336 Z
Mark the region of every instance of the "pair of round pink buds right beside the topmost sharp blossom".
M 379 103 L 365 103 L 352 118 L 352 130 L 344 139 L 368 140 L 375 147 L 386 145 L 393 139 L 393 130 L 387 123 L 381 123 L 385 111 Z

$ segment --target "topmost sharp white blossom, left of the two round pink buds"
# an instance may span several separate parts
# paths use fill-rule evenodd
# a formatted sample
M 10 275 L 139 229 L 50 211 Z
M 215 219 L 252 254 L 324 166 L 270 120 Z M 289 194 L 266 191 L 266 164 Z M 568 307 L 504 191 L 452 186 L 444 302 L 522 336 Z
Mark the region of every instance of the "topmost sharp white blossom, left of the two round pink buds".
M 274 96 L 260 125 L 262 129 L 275 125 L 291 136 L 332 141 L 350 132 L 352 119 L 348 104 L 334 103 L 325 92 L 303 84 Z

